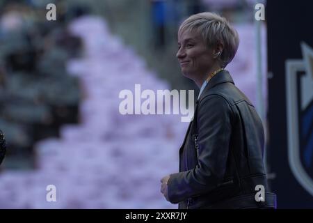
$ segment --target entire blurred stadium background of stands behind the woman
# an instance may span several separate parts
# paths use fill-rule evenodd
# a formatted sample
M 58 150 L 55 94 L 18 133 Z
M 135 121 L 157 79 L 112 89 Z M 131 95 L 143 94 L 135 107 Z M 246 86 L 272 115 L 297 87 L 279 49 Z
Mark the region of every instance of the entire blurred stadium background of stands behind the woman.
M 46 19 L 48 3 L 56 4 L 56 21 Z M 255 21 L 255 3 L 0 0 L 0 129 L 8 144 L 0 208 L 177 208 L 159 192 L 160 179 L 177 171 L 188 123 L 122 116 L 118 93 L 141 84 L 194 89 L 197 97 L 175 54 L 179 24 L 202 11 L 220 13 L 239 32 L 227 70 L 269 139 L 266 22 Z M 268 154 L 272 185 L 278 173 Z M 56 202 L 46 201 L 47 185 L 56 185 Z

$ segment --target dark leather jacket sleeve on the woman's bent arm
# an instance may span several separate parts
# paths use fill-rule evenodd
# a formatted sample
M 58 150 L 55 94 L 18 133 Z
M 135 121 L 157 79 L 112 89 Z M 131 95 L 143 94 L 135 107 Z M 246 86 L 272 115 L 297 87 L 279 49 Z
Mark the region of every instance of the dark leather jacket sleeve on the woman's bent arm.
M 200 101 L 198 165 L 188 171 L 170 174 L 170 202 L 178 203 L 205 194 L 222 183 L 232 131 L 231 114 L 230 105 L 219 95 L 209 95 Z

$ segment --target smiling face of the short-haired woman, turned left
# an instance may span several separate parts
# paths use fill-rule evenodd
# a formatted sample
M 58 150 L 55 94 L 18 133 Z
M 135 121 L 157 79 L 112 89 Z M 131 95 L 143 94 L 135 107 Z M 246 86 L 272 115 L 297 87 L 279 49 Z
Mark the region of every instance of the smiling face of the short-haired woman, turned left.
M 213 53 L 197 32 L 179 33 L 176 56 L 185 77 L 195 80 L 208 75 L 214 65 Z

